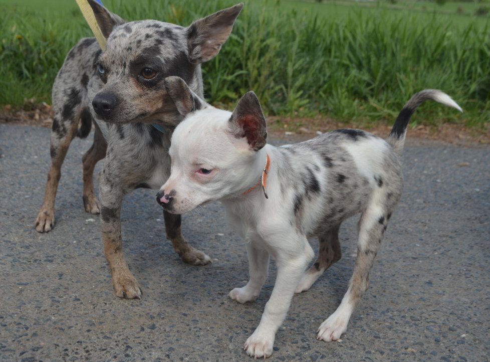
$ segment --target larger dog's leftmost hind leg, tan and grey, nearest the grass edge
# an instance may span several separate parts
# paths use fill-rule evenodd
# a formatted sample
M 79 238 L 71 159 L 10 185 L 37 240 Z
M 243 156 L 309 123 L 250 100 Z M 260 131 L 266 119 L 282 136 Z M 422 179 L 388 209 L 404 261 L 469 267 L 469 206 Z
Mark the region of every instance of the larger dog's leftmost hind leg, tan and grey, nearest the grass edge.
M 55 199 L 61 177 L 61 166 L 78 130 L 78 116 L 65 122 L 61 119 L 61 113 L 55 112 L 50 141 L 51 167 L 48 171 L 43 205 L 36 218 L 36 230 L 40 233 L 50 231 L 55 224 Z

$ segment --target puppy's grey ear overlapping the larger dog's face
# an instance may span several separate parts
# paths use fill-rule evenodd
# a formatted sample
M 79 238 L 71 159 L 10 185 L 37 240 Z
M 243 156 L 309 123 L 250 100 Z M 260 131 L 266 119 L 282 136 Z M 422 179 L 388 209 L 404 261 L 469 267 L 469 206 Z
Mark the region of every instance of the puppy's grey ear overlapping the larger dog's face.
M 201 100 L 187 83 L 180 77 L 167 77 L 163 80 L 167 93 L 177 107 L 177 111 L 184 117 L 198 109 L 204 108 L 206 103 Z

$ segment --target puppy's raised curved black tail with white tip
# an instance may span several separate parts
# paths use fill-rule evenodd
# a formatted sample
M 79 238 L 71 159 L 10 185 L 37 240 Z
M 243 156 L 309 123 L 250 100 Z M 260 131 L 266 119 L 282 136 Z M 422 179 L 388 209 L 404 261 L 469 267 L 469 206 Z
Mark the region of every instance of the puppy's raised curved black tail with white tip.
M 459 111 L 463 111 L 461 107 L 457 105 L 456 102 L 452 100 L 444 92 L 437 89 L 424 89 L 418 93 L 415 93 L 412 98 L 405 104 L 396 118 L 395 124 L 391 129 L 390 135 L 388 136 L 388 143 L 393 147 L 393 149 L 401 154 L 403 150 L 403 145 L 405 144 L 405 136 L 407 134 L 407 126 L 410 121 L 415 109 L 425 102 L 427 99 L 432 99 L 433 101 L 442 103 L 448 107 L 456 108 Z

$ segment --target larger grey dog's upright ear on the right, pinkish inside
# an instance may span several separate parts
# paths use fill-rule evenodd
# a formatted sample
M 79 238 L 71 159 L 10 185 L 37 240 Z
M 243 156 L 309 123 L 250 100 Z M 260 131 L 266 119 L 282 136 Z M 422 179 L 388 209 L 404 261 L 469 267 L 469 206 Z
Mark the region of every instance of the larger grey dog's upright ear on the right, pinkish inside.
M 189 60 L 192 63 L 204 63 L 218 54 L 221 45 L 228 39 L 241 8 L 243 3 L 197 20 L 185 29 Z

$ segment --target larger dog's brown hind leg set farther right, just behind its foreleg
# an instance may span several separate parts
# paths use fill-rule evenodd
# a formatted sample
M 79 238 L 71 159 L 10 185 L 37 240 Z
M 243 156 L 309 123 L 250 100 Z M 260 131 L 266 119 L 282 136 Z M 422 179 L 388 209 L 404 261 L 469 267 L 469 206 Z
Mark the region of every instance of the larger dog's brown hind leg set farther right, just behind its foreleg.
M 94 193 L 94 167 L 106 155 L 107 142 L 95 123 L 94 143 L 84 154 L 83 161 L 83 206 L 91 214 L 99 214 L 99 204 Z

